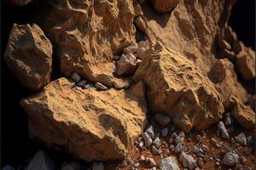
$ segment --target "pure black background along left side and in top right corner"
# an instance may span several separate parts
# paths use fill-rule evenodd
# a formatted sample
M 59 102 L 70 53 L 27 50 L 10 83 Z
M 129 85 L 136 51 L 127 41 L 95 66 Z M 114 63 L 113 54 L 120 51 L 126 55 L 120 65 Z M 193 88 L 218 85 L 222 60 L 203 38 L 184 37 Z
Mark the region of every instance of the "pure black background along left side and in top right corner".
M 28 157 L 43 148 L 28 139 L 27 116 L 19 105 L 20 99 L 32 92 L 21 86 L 3 61 L 3 53 L 14 23 L 31 24 L 32 16 L 39 9 L 38 3 L 17 7 L 1 4 L 1 168 L 22 164 Z M 230 26 L 237 37 L 255 49 L 255 1 L 238 0 L 230 16 Z

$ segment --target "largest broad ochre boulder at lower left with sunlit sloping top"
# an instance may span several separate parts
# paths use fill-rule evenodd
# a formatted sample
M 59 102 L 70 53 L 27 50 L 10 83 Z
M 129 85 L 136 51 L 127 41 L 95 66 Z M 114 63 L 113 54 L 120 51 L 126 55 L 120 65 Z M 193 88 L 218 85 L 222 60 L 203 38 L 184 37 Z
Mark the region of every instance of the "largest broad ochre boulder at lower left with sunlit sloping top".
M 60 78 L 21 100 L 30 136 L 48 146 L 60 145 L 85 161 L 124 159 L 146 123 L 145 98 L 133 94 L 143 93 L 141 82 L 130 90 L 72 87 L 73 82 Z

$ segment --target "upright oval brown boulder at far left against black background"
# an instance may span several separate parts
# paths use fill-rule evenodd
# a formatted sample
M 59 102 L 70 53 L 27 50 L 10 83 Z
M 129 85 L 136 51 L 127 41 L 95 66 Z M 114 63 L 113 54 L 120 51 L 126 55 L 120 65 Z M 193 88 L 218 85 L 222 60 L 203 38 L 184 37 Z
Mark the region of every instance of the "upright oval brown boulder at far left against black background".
M 49 83 L 52 45 L 36 24 L 14 24 L 4 59 L 26 88 L 38 90 Z

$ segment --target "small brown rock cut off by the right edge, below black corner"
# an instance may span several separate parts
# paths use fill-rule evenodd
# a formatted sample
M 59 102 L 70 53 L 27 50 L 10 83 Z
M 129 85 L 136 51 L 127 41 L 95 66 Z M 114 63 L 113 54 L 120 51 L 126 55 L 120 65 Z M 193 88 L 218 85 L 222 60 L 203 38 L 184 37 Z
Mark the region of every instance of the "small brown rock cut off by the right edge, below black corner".
M 236 68 L 244 80 L 252 81 L 255 78 L 255 51 L 252 48 L 243 48 L 236 55 Z

